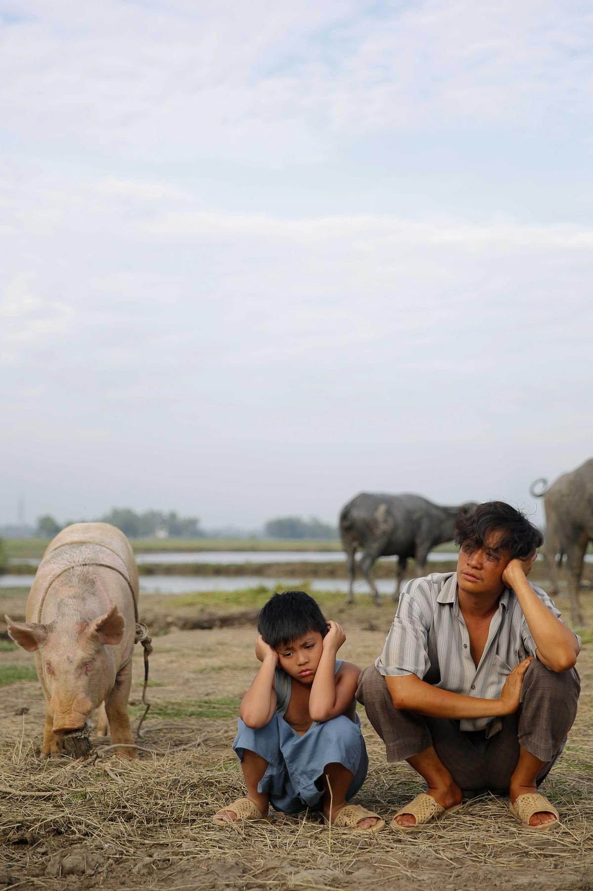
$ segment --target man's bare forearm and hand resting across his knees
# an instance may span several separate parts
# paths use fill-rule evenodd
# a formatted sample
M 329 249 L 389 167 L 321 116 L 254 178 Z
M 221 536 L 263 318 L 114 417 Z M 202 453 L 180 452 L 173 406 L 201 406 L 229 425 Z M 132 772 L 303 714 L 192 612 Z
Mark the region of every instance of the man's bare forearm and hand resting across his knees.
M 508 675 L 499 699 L 478 699 L 441 690 L 421 681 L 417 674 L 386 677 L 387 690 L 395 708 L 418 712 L 434 718 L 490 718 L 512 715 L 519 707 L 519 695 L 524 674 L 532 656 L 519 662 Z

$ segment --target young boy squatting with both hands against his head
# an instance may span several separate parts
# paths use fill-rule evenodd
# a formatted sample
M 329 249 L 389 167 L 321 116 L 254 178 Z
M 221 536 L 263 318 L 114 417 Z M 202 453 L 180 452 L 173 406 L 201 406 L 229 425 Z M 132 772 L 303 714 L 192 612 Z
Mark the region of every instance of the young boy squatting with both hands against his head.
M 274 594 L 259 614 L 256 657 L 262 663 L 242 699 L 232 744 L 248 795 L 215 814 L 217 826 L 321 809 L 326 822 L 363 832 L 385 821 L 347 805 L 361 788 L 369 759 L 354 692 L 360 669 L 336 658 L 345 642 L 303 591 Z

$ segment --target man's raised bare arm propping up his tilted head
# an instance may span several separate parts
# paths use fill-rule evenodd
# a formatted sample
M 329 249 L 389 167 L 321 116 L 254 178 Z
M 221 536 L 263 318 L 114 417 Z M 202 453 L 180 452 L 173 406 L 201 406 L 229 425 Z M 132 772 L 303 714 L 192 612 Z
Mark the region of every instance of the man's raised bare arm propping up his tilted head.
M 573 668 L 579 655 L 579 642 L 571 629 L 540 601 L 527 581 L 533 560 L 535 555 L 530 560 L 510 560 L 502 574 L 502 581 L 516 594 L 540 662 L 551 671 L 568 671 Z

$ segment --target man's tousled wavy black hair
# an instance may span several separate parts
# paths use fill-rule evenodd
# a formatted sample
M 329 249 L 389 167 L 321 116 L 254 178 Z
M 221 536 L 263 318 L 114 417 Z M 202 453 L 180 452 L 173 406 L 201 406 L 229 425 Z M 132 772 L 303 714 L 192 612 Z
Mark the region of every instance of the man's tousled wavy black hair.
M 543 535 L 521 511 L 506 502 L 484 502 L 471 513 L 460 513 L 455 544 L 466 552 L 477 551 L 491 532 L 502 532 L 497 552 L 508 548 L 510 559 L 527 560 L 543 544 Z

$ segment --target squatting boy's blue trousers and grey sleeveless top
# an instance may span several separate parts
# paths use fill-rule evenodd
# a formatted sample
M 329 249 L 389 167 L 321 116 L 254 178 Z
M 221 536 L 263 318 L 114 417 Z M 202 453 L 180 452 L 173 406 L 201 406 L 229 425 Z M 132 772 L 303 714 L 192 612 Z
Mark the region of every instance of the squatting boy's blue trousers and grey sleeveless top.
M 336 671 L 342 660 L 336 660 Z M 270 804 L 282 813 L 297 813 L 306 807 L 321 807 L 323 768 L 326 764 L 343 764 L 353 773 L 346 793 L 349 801 L 361 788 L 369 768 L 367 748 L 361 723 L 345 715 L 329 721 L 313 721 L 309 730 L 299 736 L 284 720 L 290 702 L 291 679 L 276 669 L 274 687 L 278 704 L 272 720 L 254 730 L 239 719 L 239 729 L 232 748 L 240 760 L 247 748 L 268 762 L 257 791 L 270 796 Z

